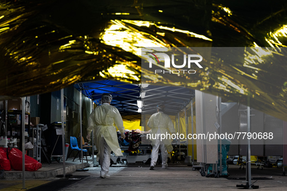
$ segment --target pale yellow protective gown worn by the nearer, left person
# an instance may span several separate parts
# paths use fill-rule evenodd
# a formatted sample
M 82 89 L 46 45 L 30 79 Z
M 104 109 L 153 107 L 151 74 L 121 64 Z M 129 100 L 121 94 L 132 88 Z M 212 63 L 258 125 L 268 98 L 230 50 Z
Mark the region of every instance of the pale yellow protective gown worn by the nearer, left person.
M 123 122 L 118 109 L 108 103 L 103 103 L 90 114 L 87 133 L 90 134 L 94 128 L 97 149 L 100 148 L 98 146 L 100 145 L 99 141 L 101 141 L 100 138 L 103 137 L 116 156 L 123 156 L 118 145 L 117 128 L 114 124 L 116 124 L 118 130 L 123 133 Z M 98 150 L 97 161 L 99 161 L 101 152 L 103 151 Z

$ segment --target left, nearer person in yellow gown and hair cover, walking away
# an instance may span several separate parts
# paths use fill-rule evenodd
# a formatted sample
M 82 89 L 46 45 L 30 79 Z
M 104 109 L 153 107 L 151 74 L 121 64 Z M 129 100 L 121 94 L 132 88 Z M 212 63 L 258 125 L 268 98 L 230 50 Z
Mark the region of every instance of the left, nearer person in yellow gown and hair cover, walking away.
M 121 138 L 124 139 L 124 127 L 122 118 L 118 109 L 111 106 L 113 97 L 110 94 L 104 93 L 101 96 L 101 106 L 96 107 L 89 116 L 87 128 L 87 140 L 90 141 L 90 133 L 94 128 L 95 144 L 98 149 L 97 161 L 101 165 L 101 178 L 109 178 L 109 167 L 111 159 L 111 151 L 116 156 L 123 156 L 118 145 L 117 129 L 121 133 Z

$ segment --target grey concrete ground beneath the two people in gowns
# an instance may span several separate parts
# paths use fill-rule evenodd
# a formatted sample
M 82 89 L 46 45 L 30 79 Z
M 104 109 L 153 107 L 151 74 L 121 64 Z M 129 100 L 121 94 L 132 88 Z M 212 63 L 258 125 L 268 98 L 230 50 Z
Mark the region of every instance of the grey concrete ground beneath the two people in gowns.
M 69 162 L 69 160 L 68 160 Z M 110 191 L 110 190 L 125 190 L 139 191 L 156 190 L 156 191 L 183 191 L 183 190 L 237 190 L 236 185 L 246 184 L 241 177 L 245 177 L 245 170 L 240 170 L 236 165 L 229 165 L 229 177 L 235 178 L 228 180 L 226 178 L 204 177 L 198 170 L 192 171 L 192 167 L 183 163 L 169 164 L 167 169 L 161 169 L 160 165 L 155 166 L 155 170 L 149 170 L 148 165 L 113 165 L 110 167 L 109 179 L 100 178 L 101 167 L 93 167 L 91 159 L 89 159 L 90 167 L 88 171 L 73 172 L 73 176 L 85 175 L 86 178 L 75 182 L 61 191 Z M 55 162 L 53 165 L 62 164 Z M 75 164 L 81 164 L 76 162 Z M 52 168 L 52 167 L 50 167 Z M 47 169 L 46 169 L 47 170 Z M 44 169 L 45 171 L 45 169 Z M 43 171 L 43 172 L 44 172 Z M 49 169 L 49 171 L 53 171 Z M 252 180 L 254 185 L 259 186 L 260 190 L 283 191 L 287 190 L 287 176 L 282 176 L 283 169 L 264 168 L 257 170 L 256 166 L 252 166 L 252 177 L 265 178 L 267 180 Z M 48 170 L 46 171 L 48 172 Z M 73 178 L 70 177 L 70 178 Z M 34 188 L 60 178 L 40 178 L 26 180 L 26 188 Z M 17 191 L 22 188 L 22 181 L 5 179 L 0 180 L 0 188 L 5 191 Z

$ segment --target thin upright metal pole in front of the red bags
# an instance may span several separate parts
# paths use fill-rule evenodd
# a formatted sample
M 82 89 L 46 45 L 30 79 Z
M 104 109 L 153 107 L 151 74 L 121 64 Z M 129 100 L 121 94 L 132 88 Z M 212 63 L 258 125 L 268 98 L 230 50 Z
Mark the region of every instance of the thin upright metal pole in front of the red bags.
M 21 123 L 22 123 L 22 189 L 26 189 L 25 188 L 25 97 L 22 97 Z

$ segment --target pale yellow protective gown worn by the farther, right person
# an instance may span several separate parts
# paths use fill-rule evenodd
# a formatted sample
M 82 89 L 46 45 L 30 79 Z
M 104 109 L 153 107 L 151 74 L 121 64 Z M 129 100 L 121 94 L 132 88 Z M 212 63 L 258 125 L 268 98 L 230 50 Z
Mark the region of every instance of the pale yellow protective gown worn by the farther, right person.
M 152 138 L 155 138 L 156 134 L 166 135 L 170 133 L 176 133 L 169 115 L 163 113 L 162 111 L 152 114 L 149 119 L 148 126 L 151 128 Z M 161 136 L 159 136 L 159 139 L 160 137 Z M 172 140 L 169 138 L 162 140 L 169 152 L 173 150 L 171 141 Z M 152 144 L 155 144 L 155 139 L 151 139 L 151 142 Z

